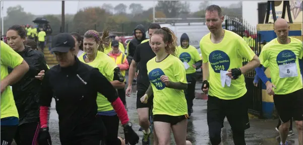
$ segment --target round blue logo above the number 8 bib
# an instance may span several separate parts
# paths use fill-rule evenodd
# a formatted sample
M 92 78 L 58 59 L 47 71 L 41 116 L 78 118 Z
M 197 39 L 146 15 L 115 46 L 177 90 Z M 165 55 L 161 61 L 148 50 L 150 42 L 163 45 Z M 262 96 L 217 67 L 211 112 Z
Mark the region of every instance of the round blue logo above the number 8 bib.
M 291 50 L 283 50 L 277 56 L 277 64 L 295 63 L 296 56 Z

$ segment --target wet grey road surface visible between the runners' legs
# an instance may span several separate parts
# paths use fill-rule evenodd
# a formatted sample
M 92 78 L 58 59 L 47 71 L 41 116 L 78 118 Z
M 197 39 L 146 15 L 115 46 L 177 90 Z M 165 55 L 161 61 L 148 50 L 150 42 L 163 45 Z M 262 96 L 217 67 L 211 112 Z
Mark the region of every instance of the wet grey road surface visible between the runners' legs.
M 135 85 L 133 85 L 133 93 L 131 97 L 127 97 L 128 104 L 128 114 L 130 116 L 130 121 L 133 122 L 134 130 L 141 138 L 143 136 L 143 132 L 138 131 L 138 116 L 136 111 L 136 89 Z M 198 83 L 196 86 L 197 93 L 201 93 L 199 88 L 201 88 L 201 83 Z M 52 141 L 54 145 L 60 144 L 59 135 L 58 135 L 58 116 L 54 109 L 55 103 L 54 100 L 52 102 L 51 114 L 50 114 L 50 134 L 52 137 Z M 193 144 L 210 144 L 208 137 L 208 126 L 206 120 L 206 110 L 207 110 L 207 100 L 194 100 L 194 113 L 188 121 L 188 134 L 187 139 L 190 140 Z M 278 120 L 275 119 L 251 119 L 251 128 L 246 130 L 246 141 L 248 145 L 271 145 L 278 144 L 276 138 L 279 136 L 278 132 L 274 129 Z M 295 123 L 293 123 L 295 124 Z M 297 140 L 297 131 L 295 126 L 293 126 L 293 131 L 295 133 L 294 136 L 288 137 L 289 144 L 298 144 Z M 119 127 L 119 136 L 124 137 L 122 126 Z M 224 127 L 222 128 L 222 141 L 224 144 L 233 144 L 231 128 L 228 124 L 228 121 L 224 121 Z M 171 136 L 173 138 L 173 136 Z M 175 144 L 173 139 L 171 139 L 171 144 Z

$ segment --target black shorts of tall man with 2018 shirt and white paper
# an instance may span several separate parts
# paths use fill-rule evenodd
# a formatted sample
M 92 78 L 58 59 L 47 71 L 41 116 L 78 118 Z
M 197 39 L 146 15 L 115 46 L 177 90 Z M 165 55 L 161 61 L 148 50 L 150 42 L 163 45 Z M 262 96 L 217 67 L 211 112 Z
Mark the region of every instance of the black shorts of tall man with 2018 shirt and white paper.
M 207 124 L 217 122 L 222 127 L 222 122 L 226 117 L 233 129 L 246 130 L 250 128 L 246 98 L 244 95 L 237 99 L 223 100 L 208 95 Z

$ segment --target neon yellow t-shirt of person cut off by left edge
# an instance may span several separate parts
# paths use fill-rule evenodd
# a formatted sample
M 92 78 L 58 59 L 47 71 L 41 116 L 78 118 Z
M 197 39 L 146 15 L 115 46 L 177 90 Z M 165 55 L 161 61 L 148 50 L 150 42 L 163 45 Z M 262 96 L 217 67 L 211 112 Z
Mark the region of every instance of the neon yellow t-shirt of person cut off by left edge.
M 15 68 L 20 65 L 23 58 L 8 44 L 1 41 L 1 81 L 9 75 L 8 66 Z M 1 118 L 18 117 L 13 92 L 8 86 L 1 94 Z

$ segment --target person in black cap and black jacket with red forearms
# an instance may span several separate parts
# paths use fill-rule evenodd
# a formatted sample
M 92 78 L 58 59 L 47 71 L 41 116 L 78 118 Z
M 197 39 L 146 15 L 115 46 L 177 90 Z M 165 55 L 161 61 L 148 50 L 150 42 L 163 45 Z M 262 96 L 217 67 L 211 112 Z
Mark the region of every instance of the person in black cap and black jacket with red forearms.
M 126 141 L 130 144 L 136 144 L 139 137 L 132 129 L 132 123 L 129 122 L 127 112 L 115 89 L 97 68 L 77 59 L 73 52 L 75 40 L 72 35 L 68 33 L 56 35 L 52 40 L 52 46 L 54 48 L 51 51 L 54 52 L 59 64 L 51 67 L 42 81 L 39 144 L 49 144 L 50 141 L 47 112 L 54 96 L 59 116 L 61 144 L 99 145 L 101 139 L 104 139 L 106 128 L 102 118 L 96 115 L 98 110 L 97 93 L 103 94 L 115 108 L 120 120 L 122 120 Z

